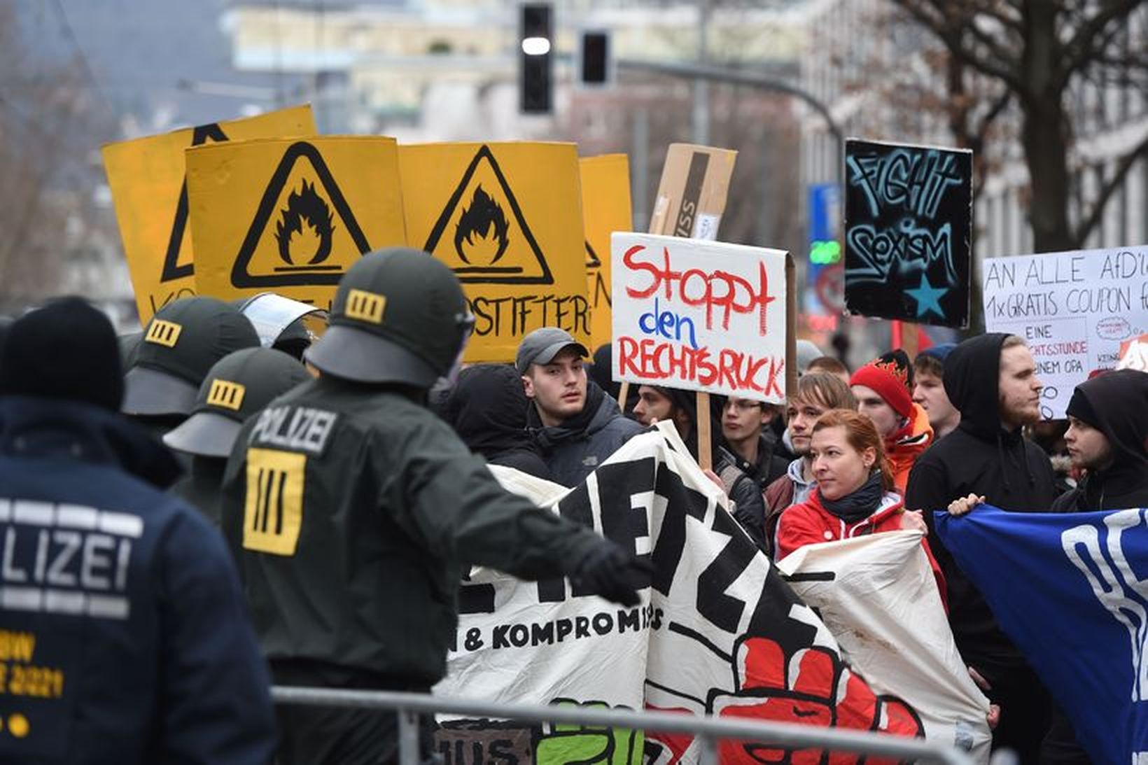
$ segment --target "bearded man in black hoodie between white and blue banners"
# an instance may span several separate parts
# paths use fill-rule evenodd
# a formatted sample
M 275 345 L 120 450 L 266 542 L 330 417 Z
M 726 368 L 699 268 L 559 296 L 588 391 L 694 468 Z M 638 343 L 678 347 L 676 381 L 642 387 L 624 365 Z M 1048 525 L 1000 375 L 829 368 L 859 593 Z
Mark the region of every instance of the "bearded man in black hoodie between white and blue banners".
M 944 382 L 961 424 L 917 459 L 905 504 L 924 510 L 930 544 L 948 582 L 956 647 L 974 678 L 1000 704 L 993 747 L 1014 749 L 1022 763 L 1035 763 L 1048 729 L 1048 693 L 933 532 L 933 512 L 969 494 L 1002 510 L 1048 511 L 1056 499 L 1052 464 L 1022 433 L 1024 425 L 1040 419 L 1041 384 L 1024 341 L 1002 333 L 959 345 L 945 363 Z

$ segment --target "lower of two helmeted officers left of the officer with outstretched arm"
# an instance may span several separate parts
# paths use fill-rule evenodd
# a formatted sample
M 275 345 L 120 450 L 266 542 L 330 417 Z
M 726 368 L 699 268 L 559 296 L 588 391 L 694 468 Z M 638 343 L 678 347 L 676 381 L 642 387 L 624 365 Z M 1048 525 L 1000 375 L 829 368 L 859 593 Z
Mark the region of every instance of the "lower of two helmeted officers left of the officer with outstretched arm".
M 243 420 L 276 396 L 311 379 L 300 362 L 271 348 L 243 348 L 215 363 L 200 386 L 195 407 L 163 442 L 192 456 L 192 466 L 172 493 L 219 525 L 223 471 Z

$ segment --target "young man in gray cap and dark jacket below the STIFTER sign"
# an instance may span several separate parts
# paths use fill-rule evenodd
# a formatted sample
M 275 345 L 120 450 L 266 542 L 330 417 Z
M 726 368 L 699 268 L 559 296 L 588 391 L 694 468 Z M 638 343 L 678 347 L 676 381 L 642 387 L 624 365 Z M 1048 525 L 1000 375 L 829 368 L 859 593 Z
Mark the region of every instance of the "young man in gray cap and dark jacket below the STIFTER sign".
M 575 486 L 644 428 L 587 379 L 585 346 L 544 326 L 522 338 L 514 366 L 533 405 L 526 424 L 553 480 Z

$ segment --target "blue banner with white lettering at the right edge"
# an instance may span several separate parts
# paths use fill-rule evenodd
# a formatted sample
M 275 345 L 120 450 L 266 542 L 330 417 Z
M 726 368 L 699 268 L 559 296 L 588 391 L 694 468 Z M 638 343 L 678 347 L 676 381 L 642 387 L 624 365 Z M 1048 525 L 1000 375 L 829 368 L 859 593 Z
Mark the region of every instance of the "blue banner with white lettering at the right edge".
M 1093 762 L 1148 762 L 1148 510 L 937 515 Z M 1001 710 L 1008 714 L 1008 710 Z

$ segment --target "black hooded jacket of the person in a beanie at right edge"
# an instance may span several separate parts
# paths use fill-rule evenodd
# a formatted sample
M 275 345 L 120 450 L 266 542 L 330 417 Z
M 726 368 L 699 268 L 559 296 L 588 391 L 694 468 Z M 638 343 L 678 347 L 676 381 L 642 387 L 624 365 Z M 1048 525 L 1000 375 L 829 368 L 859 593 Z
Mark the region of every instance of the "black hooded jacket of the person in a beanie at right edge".
M 1092 472 L 1053 503 L 1056 512 L 1148 508 L 1148 374 L 1108 372 L 1077 386 L 1112 449 L 1112 464 Z

